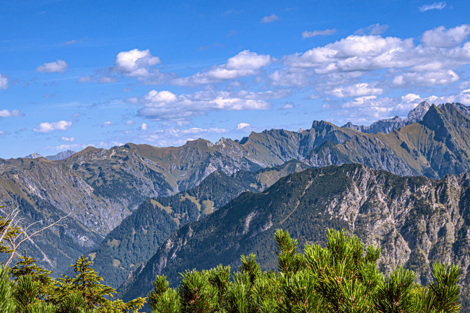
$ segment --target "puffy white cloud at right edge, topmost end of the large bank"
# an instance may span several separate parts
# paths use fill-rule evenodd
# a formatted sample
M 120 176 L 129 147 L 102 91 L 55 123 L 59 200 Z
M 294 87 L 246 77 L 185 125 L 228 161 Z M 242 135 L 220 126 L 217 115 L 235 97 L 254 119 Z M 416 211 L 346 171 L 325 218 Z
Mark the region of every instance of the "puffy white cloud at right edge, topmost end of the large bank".
M 460 25 L 446 29 L 444 26 L 425 31 L 421 41 L 423 46 L 453 47 L 458 46 L 470 34 L 470 24 Z

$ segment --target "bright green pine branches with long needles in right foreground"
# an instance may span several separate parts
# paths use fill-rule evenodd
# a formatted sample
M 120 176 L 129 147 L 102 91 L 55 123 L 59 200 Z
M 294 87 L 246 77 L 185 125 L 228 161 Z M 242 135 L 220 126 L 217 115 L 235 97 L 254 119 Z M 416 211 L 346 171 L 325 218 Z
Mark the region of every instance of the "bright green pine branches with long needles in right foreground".
M 421 286 L 404 266 L 385 277 L 376 265 L 381 249 L 369 245 L 364 253 L 344 230 L 329 229 L 326 247 L 307 244 L 303 254 L 288 231 L 277 229 L 274 239 L 279 273 L 262 272 L 250 254 L 232 276 L 222 265 L 187 270 L 177 288 L 157 276 L 148 295 L 152 313 L 460 312 L 458 264 L 433 263 L 434 281 Z

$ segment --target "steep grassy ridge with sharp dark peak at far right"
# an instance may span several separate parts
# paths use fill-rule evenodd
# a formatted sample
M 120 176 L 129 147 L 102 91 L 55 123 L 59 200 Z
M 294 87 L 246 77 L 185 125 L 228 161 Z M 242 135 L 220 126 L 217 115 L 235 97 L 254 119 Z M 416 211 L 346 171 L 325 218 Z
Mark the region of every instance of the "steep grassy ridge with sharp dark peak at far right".
M 355 132 L 341 144 L 326 141 L 305 159 L 312 167 L 361 163 L 400 176 L 439 178 L 470 171 L 469 127 L 470 118 L 454 104 L 433 105 L 421 122 L 389 134 Z

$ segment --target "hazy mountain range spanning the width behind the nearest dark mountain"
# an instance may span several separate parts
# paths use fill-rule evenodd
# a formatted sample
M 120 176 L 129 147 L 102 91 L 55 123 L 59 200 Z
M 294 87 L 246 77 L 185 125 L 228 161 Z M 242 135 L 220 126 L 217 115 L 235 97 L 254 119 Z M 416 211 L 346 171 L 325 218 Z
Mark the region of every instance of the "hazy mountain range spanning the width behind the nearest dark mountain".
M 25 243 L 41 266 L 59 275 L 77 256 L 89 254 L 105 281 L 118 287 L 131 270 L 135 274 L 154 257 L 168 236 L 212 218 L 212 211 L 242 197 L 241 192 L 265 192 L 279 178 L 306 168 L 360 163 L 437 181 L 468 172 L 469 107 L 431 105 L 422 115 L 426 105 L 408 115 L 417 122 L 388 133 L 314 121 L 308 130 L 264 130 L 242 140 L 222 137 L 214 144 L 199 138 L 180 147 L 87 147 L 63 160 L 0 159 L 5 172 L 0 193 L 7 206 L 21 206 L 31 222 L 70 214 L 67 229 L 53 228 Z M 224 191 L 217 186 L 232 187 Z M 343 225 L 341 219 L 329 221 L 337 224 L 322 225 Z M 399 255 L 390 258 L 399 260 Z M 123 288 L 120 294 L 125 295 Z

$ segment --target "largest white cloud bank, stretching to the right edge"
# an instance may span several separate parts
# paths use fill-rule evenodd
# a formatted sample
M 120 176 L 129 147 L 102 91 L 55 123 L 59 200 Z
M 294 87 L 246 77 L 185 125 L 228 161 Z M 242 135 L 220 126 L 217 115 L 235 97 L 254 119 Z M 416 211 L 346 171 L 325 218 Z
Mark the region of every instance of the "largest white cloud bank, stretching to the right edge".
M 383 83 L 388 80 L 398 88 L 448 85 L 459 80 L 454 69 L 470 63 L 470 43 L 465 42 L 470 25 L 426 31 L 417 46 L 413 38 L 372 34 L 384 31 L 383 26 L 369 26 L 370 35 L 351 35 L 286 56 L 284 68 L 269 74 L 271 84 L 304 87 L 314 82 L 317 91 L 334 93 L 339 86 L 359 83 L 371 71 L 387 69 Z

